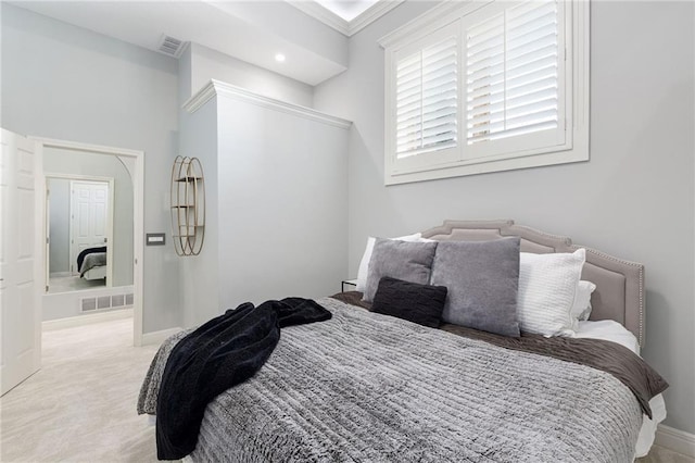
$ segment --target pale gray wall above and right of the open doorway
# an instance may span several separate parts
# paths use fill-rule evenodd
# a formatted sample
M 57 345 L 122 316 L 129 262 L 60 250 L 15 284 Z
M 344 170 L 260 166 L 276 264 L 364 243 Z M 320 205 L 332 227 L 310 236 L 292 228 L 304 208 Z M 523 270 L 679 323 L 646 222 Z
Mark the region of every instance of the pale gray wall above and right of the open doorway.
M 2 127 L 144 151 L 144 230 L 170 229 L 175 59 L 2 2 Z M 143 330 L 180 325 L 172 247 L 146 247 Z

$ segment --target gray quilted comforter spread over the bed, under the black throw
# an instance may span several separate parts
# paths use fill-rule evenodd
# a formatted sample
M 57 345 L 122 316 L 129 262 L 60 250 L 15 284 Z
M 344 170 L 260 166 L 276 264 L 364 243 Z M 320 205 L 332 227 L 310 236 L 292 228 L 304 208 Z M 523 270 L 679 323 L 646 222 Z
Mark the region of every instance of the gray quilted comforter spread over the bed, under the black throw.
M 611 375 L 318 302 L 332 320 L 283 329 L 263 368 L 207 405 L 193 461 L 632 461 L 642 411 Z M 140 413 L 185 334 L 153 360 Z

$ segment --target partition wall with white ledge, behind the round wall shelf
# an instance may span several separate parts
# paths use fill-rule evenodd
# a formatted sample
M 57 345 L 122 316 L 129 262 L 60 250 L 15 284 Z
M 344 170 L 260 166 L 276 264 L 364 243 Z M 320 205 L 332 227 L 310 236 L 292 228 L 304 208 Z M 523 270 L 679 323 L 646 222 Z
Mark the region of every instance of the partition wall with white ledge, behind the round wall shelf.
M 206 196 L 202 252 L 181 261 L 185 326 L 247 301 L 338 291 L 349 132 L 298 110 L 223 92 L 181 114 Z

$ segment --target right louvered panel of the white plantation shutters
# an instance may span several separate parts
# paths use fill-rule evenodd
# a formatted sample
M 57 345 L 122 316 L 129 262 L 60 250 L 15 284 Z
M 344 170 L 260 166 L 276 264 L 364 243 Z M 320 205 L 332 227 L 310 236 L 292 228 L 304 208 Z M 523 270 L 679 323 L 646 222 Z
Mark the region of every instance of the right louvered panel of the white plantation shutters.
M 468 146 L 564 130 L 558 9 L 556 1 L 529 1 L 467 27 Z

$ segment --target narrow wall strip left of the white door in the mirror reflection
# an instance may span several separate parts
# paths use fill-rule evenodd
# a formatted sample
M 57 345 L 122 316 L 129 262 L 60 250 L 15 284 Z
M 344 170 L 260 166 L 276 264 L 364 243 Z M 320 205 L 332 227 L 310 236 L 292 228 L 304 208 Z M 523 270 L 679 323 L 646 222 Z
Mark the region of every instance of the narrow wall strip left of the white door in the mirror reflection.
M 70 180 L 48 178 L 50 273 L 70 272 Z

